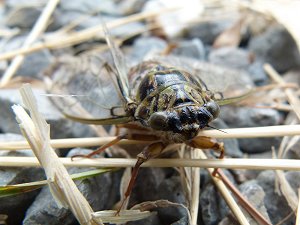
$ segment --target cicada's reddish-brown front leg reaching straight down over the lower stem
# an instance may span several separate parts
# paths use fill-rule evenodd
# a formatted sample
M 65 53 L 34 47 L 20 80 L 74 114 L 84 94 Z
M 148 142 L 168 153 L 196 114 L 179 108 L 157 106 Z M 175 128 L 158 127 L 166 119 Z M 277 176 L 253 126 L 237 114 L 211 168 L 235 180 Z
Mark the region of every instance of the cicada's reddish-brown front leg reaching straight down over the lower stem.
M 162 142 L 155 142 L 155 143 L 152 143 L 152 144 L 148 145 L 147 147 L 145 147 L 144 150 L 137 155 L 137 162 L 135 163 L 135 166 L 132 170 L 131 178 L 130 178 L 129 184 L 127 186 L 127 189 L 126 189 L 125 196 L 122 199 L 121 205 L 118 208 L 116 215 L 119 215 L 125 202 L 127 201 L 128 197 L 130 196 L 141 165 L 144 162 L 146 162 L 147 160 L 158 156 L 164 150 L 165 147 L 166 146 Z

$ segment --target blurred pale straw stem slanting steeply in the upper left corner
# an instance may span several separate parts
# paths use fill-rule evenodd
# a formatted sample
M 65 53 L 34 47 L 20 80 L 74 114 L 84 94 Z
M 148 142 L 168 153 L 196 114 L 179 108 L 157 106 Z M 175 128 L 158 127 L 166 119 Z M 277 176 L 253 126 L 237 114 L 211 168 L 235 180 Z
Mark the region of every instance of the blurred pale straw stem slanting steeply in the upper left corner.
M 56 8 L 56 5 L 59 3 L 59 0 L 49 0 L 46 7 L 44 8 L 43 12 L 41 13 L 40 17 L 36 21 L 34 27 L 32 28 L 31 32 L 27 36 L 23 46 L 21 49 L 26 50 L 29 48 L 29 46 L 41 35 L 41 33 L 44 32 L 48 25 L 48 21 L 50 16 L 52 15 L 53 11 Z M 5 71 L 1 82 L 0 87 L 5 86 L 11 77 L 15 74 L 15 72 L 18 70 L 20 65 L 22 64 L 24 59 L 24 55 L 18 55 L 16 58 L 14 58 L 10 64 L 10 66 Z

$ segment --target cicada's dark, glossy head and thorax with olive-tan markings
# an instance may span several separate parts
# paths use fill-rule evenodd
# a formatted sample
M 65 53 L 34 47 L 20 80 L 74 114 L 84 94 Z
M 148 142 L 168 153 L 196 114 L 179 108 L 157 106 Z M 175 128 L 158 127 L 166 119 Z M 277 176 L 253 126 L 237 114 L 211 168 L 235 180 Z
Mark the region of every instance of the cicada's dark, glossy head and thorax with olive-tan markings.
M 154 62 L 131 74 L 134 118 L 168 142 L 182 143 L 215 119 L 219 106 L 201 81 L 186 71 Z

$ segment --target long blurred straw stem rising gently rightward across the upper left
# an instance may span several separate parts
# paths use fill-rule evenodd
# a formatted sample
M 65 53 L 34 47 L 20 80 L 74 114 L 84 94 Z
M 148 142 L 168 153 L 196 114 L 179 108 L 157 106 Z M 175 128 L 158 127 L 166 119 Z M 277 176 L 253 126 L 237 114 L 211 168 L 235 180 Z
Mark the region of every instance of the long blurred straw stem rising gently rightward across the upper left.
M 175 11 L 177 9 L 178 8 L 167 8 L 167 9 L 153 11 L 153 12 L 137 13 L 137 14 L 133 14 L 133 15 L 128 16 L 128 17 L 124 17 L 124 18 L 121 18 L 121 19 L 114 20 L 112 22 L 108 22 L 106 25 L 107 25 L 108 29 L 113 29 L 113 28 L 125 25 L 127 23 L 131 23 L 131 22 L 135 22 L 135 21 L 155 17 L 155 16 L 160 15 L 162 13 Z M 17 49 L 17 50 L 14 50 L 14 51 L 10 51 L 10 52 L 1 54 L 0 55 L 0 60 L 10 59 L 10 58 L 13 58 L 14 56 L 19 55 L 19 54 L 24 54 L 24 55 L 29 54 L 29 53 L 39 51 L 39 50 L 44 49 L 44 48 L 54 49 L 54 48 L 61 48 L 61 47 L 71 46 L 71 45 L 74 45 L 74 44 L 84 42 L 86 40 L 93 39 L 96 36 L 98 36 L 99 33 L 101 33 L 101 32 L 102 32 L 102 25 L 87 28 L 85 30 L 73 33 L 72 35 L 69 35 L 69 36 L 64 36 L 64 37 L 60 36 L 58 38 L 59 40 L 56 39 L 54 41 L 47 41 L 45 43 L 38 43 L 38 44 L 33 45 L 31 48 Z

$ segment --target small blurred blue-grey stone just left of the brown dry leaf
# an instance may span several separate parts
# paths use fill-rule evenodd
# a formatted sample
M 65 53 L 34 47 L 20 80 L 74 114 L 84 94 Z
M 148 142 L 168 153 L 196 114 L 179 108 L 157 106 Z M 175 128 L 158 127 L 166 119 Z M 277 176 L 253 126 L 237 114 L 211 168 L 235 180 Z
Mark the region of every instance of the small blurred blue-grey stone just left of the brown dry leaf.
M 191 41 L 183 41 L 172 51 L 177 56 L 189 57 L 198 60 L 205 59 L 205 48 L 200 39 L 194 38 Z

